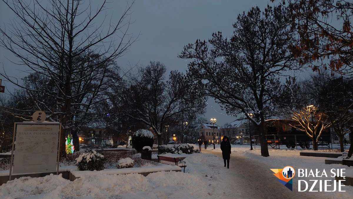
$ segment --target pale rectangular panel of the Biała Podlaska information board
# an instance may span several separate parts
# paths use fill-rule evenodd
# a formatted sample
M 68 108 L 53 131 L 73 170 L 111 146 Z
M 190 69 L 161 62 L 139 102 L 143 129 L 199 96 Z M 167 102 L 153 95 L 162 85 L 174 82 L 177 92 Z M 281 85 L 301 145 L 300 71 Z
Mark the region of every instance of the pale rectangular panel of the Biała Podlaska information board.
M 55 172 L 60 124 L 17 124 L 12 174 Z

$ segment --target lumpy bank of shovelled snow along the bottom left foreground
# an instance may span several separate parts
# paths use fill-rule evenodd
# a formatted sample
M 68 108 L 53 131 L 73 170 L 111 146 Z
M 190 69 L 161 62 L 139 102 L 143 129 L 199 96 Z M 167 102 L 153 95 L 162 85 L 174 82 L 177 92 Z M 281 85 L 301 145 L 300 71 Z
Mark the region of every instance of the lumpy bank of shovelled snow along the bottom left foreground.
M 0 198 L 169 198 L 173 193 L 186 193 L 186 198 L 207 198 L 208 183 L 199 176 L 183 172 L 140 174 L 87 175 L 73 182 L 59 176 L 22 177 L 0 187 Z M 180 195 L 180 194 L 178 194 Z M 184 193 L 182 194 L 184 195 Z M 189 197 L 187 197 L 189 196 Z M 192 196 L 192 197 L 190 197 Z M 142 198 L 142 197 L 141 197 Z

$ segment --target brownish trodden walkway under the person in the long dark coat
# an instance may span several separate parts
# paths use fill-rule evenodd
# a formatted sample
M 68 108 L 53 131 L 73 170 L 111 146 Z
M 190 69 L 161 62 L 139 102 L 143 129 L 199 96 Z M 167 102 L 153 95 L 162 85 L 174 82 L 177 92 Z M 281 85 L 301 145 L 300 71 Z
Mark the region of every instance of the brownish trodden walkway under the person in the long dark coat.
M 236 153 L 231 154 L 229 169 L 223 167 L 222 153 L 202 151 L 220 158 L 219 165 L 209 165 L 221 174 L 218 179 L 224 189 L 222 198 L 268 198 L 268 199 L 326 199 L 331 198 L 319 192 L 298 192 L 297 180 L 294 180 L 293 192 L 283 186 L 273 175 L 271 166 L 259 160 L 250 159 Z

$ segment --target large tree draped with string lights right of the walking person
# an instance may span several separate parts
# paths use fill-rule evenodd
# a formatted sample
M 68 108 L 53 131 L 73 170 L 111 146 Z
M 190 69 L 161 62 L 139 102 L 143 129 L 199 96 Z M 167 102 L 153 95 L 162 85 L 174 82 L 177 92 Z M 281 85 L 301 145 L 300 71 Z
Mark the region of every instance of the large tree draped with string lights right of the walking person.
M 214 33 L 208 42 L 197 40 L 179 55 L 192 59 L 189 76 L 204 87 L 229 114 L 244 113 L 259 132 L 262 156 L 269 156 L 265 118 L 276 109 L 280 76 L 297 69 L 297 59 L 288 51 L 295 42 L 285 8 L 253 7 L 239 14 L 229 39 Z M 254 117 L 249 117 L 253 113 Z

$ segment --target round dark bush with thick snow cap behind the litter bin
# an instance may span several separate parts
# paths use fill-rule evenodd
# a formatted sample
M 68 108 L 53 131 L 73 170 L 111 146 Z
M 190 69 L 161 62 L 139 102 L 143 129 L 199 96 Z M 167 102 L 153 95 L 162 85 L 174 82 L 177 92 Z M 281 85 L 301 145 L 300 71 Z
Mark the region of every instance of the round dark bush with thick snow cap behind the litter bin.
M 154 136 L 151 131 L 140 129 L 132 136 L 132 148 L 140 152 L 144 146 L 153 146 Z

